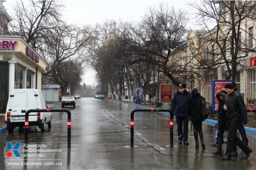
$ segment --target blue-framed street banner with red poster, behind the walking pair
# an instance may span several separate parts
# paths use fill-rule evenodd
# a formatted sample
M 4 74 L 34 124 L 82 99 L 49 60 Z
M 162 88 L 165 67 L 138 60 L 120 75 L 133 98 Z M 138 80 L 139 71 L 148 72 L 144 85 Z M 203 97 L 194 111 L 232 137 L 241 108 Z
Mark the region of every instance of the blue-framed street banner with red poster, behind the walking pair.
M 225 90 L 225 84 L 227 83 L 232 83 L 232 80 L 212 80 L 212 111 L 214 112 L 218 112 L 219 106 L 216 93 Z

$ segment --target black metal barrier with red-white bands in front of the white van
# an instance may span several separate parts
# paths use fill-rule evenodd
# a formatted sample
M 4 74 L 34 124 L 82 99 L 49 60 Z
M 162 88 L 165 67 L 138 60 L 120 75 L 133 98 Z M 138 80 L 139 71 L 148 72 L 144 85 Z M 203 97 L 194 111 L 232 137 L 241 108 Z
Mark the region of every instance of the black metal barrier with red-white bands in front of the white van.
M 71 148 L 71 112 L 66 109 L 30 109 L 27 110 L 25 113 L 25 130 L 24 130 L 24 143 L 25 143 L 25 149 L 27 149 L 27 143 L 28 143 L 28 135 L 29 135 L 29 114 L 31 112 L 67 112 L 68 114 L 68 149 Z

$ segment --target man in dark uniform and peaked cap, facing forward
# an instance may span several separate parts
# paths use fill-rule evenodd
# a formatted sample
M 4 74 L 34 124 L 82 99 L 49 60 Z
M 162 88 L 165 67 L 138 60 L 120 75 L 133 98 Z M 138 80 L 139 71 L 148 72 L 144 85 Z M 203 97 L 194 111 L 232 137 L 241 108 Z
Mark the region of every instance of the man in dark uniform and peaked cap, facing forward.
M 186 89 L 186 84 L 179 84 L 178 91 L 174 93 L 173 99 L 171 102 L 171 111 L 175 113 L 177 128 L 178 128 L 178 143 L 188 145 L 188 99 L 191 96 L 191 93 Z M 182 130 L 183 126 L 183 130 Z

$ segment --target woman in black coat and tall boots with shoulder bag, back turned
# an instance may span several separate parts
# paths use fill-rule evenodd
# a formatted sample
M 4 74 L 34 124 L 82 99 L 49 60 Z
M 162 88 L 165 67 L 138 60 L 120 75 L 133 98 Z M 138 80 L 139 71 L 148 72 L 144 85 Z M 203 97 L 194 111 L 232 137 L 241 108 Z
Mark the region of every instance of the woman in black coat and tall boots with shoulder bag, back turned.
M 205 149 L 204 137 L 203 137 L 203 131 L 202 131 L 203 116 L 201 112 L 202 102 L 204 101 L 205 103 L 205 98 L 199 94 L 196 88 L 192 90 L 191 94 L 192 95 L 188 101 L 188 112 L 189 112 L 189 120 L 191 120 L 193 124 L 196 149 L 198 149 L 199 147 L 198 134 L 201 140 L 202 149 Z

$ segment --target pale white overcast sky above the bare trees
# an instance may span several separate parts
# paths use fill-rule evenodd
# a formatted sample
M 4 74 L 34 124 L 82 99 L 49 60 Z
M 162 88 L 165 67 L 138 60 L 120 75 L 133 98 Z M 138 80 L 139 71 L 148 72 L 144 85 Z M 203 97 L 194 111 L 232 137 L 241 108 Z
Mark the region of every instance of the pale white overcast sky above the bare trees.
M 78 26 L 94 25 L 111 19 L 138 22 L 149 7 L 158 7 L 161 2 L 191 10 L 185 1 L 173 0 L 68 0 L 63 1 L 66 6 L 63 16 L 68 23 Z M 12 0 L 3 3 L 7 12 L 12 12 L 13 3 L 15 1 Z M 190 27 L 193 28 L 193 25 Z M 86 84 L 93 84 L 94 72 L 87 71 L 82 79 Z

